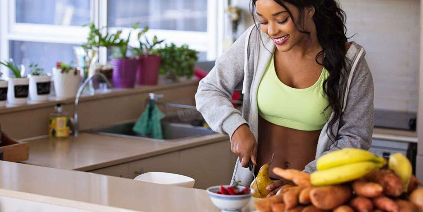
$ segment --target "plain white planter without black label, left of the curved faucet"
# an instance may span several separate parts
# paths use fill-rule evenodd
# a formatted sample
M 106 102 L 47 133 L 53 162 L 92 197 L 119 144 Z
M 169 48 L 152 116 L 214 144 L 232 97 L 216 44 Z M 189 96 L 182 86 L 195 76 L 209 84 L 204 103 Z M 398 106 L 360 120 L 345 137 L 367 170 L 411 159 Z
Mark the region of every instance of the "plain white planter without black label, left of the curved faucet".
M 79 70 L 61 73 L 62 70 L 53 68 L 53 81 L 56 97 L 59 99 L 74 98 L 80 83 Z

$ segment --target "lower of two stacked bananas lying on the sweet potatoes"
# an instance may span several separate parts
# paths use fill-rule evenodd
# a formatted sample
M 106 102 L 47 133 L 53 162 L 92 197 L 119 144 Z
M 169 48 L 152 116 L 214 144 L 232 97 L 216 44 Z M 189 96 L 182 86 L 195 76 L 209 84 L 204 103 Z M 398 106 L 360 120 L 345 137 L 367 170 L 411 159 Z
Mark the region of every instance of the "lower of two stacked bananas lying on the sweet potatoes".
M 310 181 L 315 186 L 339 184 L 359 179 L 382 167 L 384 162 L 357 162 L 311 173 Z

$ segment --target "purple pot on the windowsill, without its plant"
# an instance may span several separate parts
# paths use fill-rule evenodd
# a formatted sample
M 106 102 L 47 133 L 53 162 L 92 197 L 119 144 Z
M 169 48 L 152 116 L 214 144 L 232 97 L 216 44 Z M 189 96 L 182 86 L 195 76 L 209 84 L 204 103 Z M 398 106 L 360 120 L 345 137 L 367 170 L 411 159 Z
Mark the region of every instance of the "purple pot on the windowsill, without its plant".
M 113 84 L 117 88 L 133 88 L 137 75 L 137 59 L 112 59 Z

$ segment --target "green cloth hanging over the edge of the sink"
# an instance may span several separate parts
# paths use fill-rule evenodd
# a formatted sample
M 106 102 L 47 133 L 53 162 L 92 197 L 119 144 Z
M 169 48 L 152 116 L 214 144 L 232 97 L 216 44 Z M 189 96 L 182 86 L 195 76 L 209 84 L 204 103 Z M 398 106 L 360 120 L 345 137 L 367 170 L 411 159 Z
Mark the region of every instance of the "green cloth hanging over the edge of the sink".
M 160 120 L 165 117 L 154 101 L 150 100 L 146 110 L 141 114 L 132 130 L 142 136 L 154 139 L 163 139 L 162 124 Z

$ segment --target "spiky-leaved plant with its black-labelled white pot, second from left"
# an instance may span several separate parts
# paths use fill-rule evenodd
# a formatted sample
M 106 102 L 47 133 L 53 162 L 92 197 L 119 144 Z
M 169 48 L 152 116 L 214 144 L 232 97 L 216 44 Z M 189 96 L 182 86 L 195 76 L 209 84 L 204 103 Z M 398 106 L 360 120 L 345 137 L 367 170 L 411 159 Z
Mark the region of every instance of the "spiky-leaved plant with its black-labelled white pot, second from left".
M 8 80 L 7 100 L 13 105 L 26 104 L 28 99 L 28 78 L 24 77 L 25 68 L 22 66 L 21 70 L 12 62 L 12 60 L 0 62 L 0 64 L 8 67 L 14 77 Z

